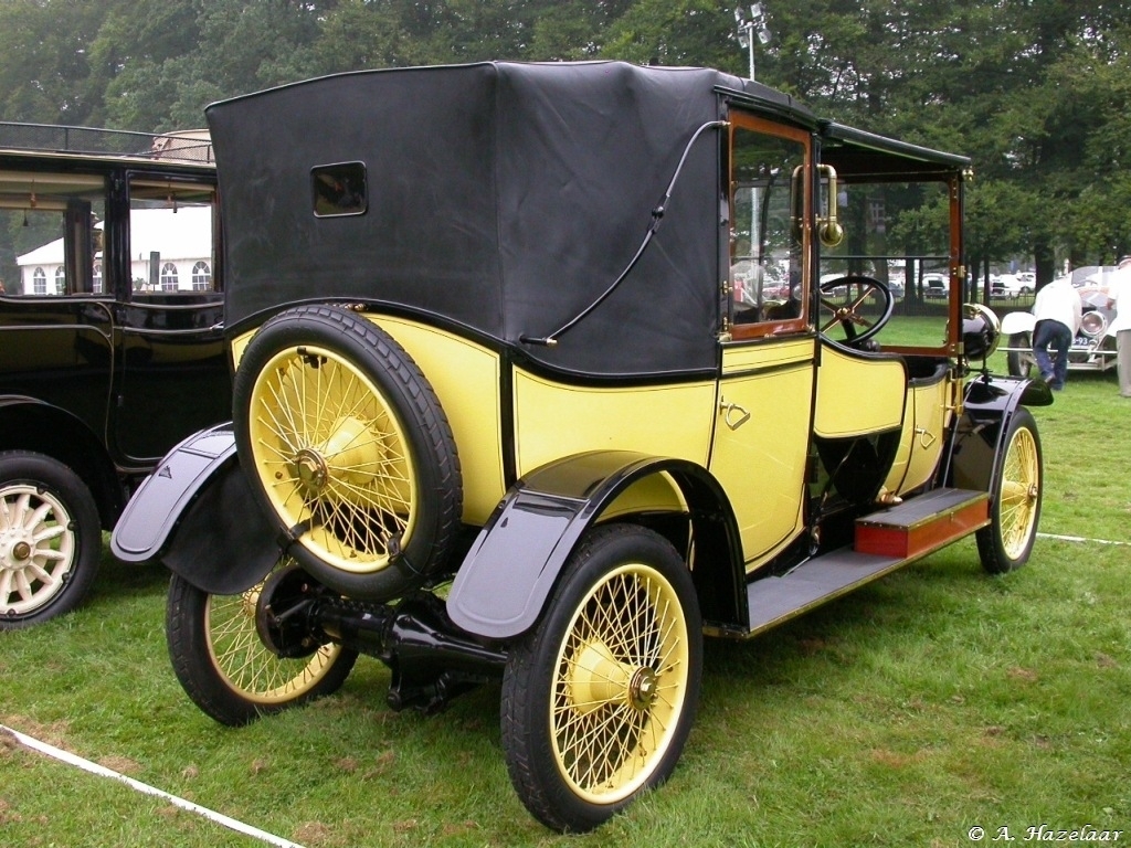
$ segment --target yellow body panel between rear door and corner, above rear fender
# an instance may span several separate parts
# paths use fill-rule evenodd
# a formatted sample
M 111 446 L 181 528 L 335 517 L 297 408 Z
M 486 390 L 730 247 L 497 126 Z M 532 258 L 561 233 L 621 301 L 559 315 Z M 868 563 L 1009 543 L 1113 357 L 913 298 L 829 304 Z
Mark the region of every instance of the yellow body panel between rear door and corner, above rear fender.
M 515 371 L 519 476 L 562 457 L 632 450 L 707 464 L 715 382 L 611 389 Z

